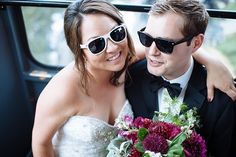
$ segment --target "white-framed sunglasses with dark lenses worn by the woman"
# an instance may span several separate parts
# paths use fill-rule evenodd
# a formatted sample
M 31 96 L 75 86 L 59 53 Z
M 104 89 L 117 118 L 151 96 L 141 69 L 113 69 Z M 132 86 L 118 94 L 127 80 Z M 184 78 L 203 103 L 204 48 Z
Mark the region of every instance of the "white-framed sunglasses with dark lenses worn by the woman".
M 120 43 L 126 38 L 126 35 L 126 27 L 124 24 L 122 24 L 115 27 L 103 36 L 94 38 L 88 41 L 86 44 L 81 44 L 80 48 L 87 48 L 92 54 L 99 55 L 106 49 L 108 38 L 114 43 Z

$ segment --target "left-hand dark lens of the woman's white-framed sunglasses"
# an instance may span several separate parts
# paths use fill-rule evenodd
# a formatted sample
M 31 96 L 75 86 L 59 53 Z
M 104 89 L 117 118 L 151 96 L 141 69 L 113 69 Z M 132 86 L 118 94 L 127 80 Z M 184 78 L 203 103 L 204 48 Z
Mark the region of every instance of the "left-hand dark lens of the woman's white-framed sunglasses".
M 88 48 L 93 54 L 100 53 L 105 48 L 105 39 L 104 38 L 97 38 L 97 39 L 91 41 L 88 44 Z

